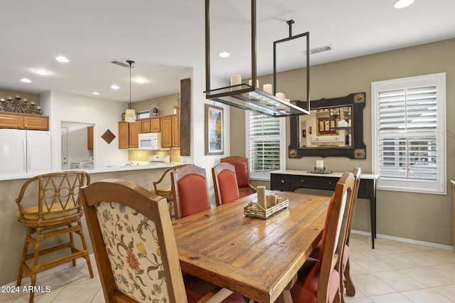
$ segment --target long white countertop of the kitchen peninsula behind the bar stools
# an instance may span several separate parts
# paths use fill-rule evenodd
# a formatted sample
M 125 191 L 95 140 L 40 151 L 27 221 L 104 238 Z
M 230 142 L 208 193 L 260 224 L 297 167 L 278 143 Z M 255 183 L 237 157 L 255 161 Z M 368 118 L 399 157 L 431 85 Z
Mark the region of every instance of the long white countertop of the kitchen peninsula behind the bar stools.
M 181 163 L 168 163 L 168 164 L 152 164 L 152 165 L 133 165 L 133 166 L 107 166 L 107 167 L 100 167 L 95 169 L 77 169 L 80 171 L 87 171 L 89 174 L 100 174 L 100 173 L 109 173 L 114 171 L 137 171 L 143 169 L 166 169 L 168 167 L 176 166 Z M 68 169 L 70 171 L 72 169 Z M 76 169 L 75 169 L 76 170 Z M 50 173 L 51 171 L 41 171 L 41 172 L 33 172 L 33 173 L 18 173 L 18 174 L 0 174 L 0 181 L 5 180 L 18 180 L 18 179 L 29 179 L 33 176 L 37 176 L 39 174 L 46 174 Z

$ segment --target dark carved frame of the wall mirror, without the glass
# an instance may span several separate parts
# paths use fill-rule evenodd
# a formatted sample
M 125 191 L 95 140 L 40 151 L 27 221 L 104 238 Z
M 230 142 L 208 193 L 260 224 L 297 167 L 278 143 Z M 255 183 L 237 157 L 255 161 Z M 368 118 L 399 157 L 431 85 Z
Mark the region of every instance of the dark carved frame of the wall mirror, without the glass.
M 296 101 L 297 103 L 301 101 Z M 289 158 L 303 156 L 346 156 L 349 159 L 366 159 L 366 147 L 363 143 L 363 109 L 365 108 L 365 92 L 355 92 L 346 97 L 322 98 L 310 102 L 310 110 L 326 107 L 352 106 L 352 137 L 351 147 L 299 147 L 299 116 L 290 117 Z

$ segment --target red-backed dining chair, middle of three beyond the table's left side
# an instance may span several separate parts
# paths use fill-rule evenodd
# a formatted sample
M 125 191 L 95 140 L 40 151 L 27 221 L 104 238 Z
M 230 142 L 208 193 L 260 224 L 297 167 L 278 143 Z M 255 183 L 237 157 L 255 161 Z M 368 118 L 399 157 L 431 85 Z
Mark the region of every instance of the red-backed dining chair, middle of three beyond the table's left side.
M 215 165 L 212 168 L 212 176 L 216 205 L 220 206 L 240 198 L 235 167 L 232 164 L 222 162 Z

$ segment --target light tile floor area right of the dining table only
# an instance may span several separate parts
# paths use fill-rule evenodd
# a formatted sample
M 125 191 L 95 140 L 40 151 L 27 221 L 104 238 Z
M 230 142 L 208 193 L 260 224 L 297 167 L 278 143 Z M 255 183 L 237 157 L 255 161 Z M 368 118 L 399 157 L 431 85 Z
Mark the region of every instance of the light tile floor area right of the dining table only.
M 355 296 L 347 303 L 455 302 L 455 252 L 351 234 Z

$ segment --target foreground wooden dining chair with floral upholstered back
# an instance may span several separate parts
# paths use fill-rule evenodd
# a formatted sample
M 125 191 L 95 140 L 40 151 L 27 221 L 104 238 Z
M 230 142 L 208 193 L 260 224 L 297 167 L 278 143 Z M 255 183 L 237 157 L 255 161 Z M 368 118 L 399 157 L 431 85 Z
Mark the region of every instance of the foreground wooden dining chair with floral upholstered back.
M 81 188 L 80 197 L 106 302 L 242 302 L 183 278 L 166 198 L 116 179 Z

